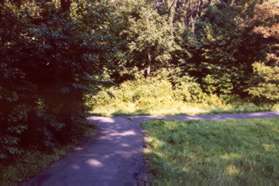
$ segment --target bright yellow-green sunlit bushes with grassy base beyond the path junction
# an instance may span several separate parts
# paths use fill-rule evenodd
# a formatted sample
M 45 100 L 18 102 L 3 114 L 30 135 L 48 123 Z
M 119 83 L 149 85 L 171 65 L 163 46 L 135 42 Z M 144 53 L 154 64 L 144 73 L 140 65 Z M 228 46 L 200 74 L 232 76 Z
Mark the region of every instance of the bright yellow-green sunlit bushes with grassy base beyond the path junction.
M 90 110 L 100 114 L 174 114 L 202 113 L 231 106 L 214 94 L 202 91 L 190 77 L 151 77 L 126 81 L 119 87 L 103 88 L 97 95 L 88 95 Z M 255 105 L 253 107 L 257 108 Z

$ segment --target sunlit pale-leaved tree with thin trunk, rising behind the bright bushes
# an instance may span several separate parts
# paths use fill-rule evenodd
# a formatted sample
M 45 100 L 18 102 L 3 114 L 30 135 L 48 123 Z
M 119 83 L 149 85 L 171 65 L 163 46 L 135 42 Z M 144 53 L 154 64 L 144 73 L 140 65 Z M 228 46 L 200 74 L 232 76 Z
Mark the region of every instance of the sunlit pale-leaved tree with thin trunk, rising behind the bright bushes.
M 172 28 L 149 7 L 142 7 L 137 17 L 129 18 L 128 47 L 130 60 L 145 76 L 158 68 L 167 67 L 175 50 Z

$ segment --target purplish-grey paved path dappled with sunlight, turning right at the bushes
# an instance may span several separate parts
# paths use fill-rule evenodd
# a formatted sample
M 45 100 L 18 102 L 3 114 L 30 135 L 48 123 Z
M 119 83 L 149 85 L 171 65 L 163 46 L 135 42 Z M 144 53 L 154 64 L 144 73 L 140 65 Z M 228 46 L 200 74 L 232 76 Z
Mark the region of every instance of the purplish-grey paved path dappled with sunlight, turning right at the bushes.
M 199 116 L 89 117 L 97 136 L 54 163 L 23 186 L 134 186 L 144 185 L 143 132 L 140 123 L 150 119 L 222 120 L 279 117 L 279 112 Z M 140 183 L 140 184 L 139 184 Z

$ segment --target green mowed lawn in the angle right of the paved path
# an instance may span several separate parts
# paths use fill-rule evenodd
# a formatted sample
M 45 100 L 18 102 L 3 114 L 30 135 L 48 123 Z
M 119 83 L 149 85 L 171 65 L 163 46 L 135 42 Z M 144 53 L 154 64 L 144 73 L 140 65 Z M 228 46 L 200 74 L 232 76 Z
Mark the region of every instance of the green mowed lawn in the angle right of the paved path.
M 144 124 L 152 185 L 279 185 L 279 118 Z

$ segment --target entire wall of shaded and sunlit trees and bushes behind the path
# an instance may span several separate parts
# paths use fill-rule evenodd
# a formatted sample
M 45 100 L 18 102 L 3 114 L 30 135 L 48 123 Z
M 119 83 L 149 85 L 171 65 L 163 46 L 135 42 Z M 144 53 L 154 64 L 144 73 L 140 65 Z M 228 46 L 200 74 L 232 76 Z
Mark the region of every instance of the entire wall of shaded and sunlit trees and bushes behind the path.
M 92 107 L 108 92 L 144 107 L 278 102 L 278 12 L 257 0 L 0 1 L 0 159 L 75 136 L 99 82 L 122 89 L 87 97 Z

